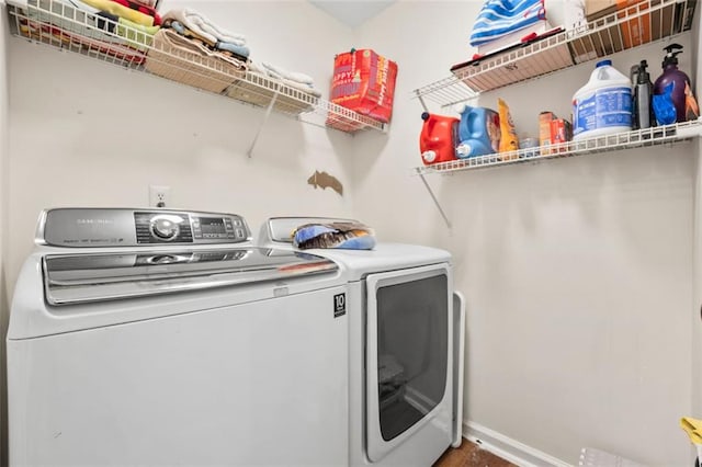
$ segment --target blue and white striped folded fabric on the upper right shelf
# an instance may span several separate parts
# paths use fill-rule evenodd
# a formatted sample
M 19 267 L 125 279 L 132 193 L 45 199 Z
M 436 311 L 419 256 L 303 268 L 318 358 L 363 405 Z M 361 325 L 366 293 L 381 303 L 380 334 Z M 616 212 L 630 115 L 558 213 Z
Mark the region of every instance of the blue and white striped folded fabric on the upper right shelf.
M 545 18 L 544 0 L 487 0 L 473 24 L 471 45 L 495 41 Z

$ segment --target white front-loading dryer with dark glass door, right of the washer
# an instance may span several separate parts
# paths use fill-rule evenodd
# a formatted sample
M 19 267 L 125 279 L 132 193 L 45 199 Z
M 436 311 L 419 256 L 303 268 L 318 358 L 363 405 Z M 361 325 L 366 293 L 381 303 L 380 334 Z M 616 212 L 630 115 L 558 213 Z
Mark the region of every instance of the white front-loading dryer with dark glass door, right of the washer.
M 258 244 L 294 250 L 308 223 L 275 217 Z M 380 243 L 373 250 L 305 250 L 335 261 L 348 278 L 349 463 L 430 466 L 462 441 L 464 309 L 451 255 Z

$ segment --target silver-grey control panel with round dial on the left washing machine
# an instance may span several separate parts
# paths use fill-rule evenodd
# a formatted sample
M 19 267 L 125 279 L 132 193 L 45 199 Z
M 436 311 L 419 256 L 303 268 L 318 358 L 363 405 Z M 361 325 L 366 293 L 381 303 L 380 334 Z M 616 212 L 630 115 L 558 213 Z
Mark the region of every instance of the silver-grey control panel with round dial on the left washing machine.
M 249 227 L 239 215 L 174 209 L 46 209 L 36 232 L 36 243 L 71 248 L 218 244 L 250 240 Z

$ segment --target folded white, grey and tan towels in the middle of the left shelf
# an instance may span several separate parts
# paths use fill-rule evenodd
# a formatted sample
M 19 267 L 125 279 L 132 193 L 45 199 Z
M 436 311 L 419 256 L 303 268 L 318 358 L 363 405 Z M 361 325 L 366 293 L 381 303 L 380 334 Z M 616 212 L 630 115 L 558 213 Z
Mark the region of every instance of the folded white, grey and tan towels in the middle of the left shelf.
M 218 27 L 191 9 L 171 10 L 154 36 L 145 68 L 158 76 L 220 93 L 246 72 L 242 35 Z

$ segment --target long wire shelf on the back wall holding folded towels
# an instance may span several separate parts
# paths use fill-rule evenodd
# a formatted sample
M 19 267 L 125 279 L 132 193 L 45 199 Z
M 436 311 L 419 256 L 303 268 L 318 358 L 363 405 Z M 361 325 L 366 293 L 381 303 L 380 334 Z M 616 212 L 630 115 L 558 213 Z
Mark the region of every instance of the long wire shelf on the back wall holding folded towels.
M 139 29 L 103 18 L 61 0 L 8 2 L 13 35 L 81 54 L 122 68 L 144 71 L 249 105 L 320 126 L 353 133 L 386 130 L 386 124 L 325 101 L 316 91 L 248 69 L 246 59 L 212 53 L 174 32 Z

